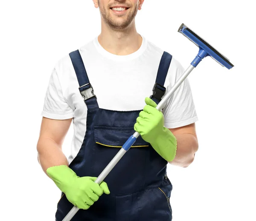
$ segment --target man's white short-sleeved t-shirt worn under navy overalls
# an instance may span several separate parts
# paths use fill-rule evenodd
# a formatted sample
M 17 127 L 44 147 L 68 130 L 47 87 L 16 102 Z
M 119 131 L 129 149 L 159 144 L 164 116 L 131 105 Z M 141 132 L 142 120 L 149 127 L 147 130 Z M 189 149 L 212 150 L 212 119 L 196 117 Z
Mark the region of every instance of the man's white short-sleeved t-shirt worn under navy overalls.
M 163 55 L 162 49 L 143 37 L 142 45 L 136 52 L 130 55 L 114 55 L 106 51 L 99 44 L 98 37 L 95 37 L 82 46 L 79 52 L 100 108 L 117 111 L 143 109 L 145 97 L 152 95 Z M 172 57 L 164 84 L 166 93 L 183 72 L 183 67 Z M 163 115 L 167 128 L 198 121 L 187 78 L 163 106 Z M 57 120 L 73 118 L 74 136 L 68 158 L 70 163 L 84 140 L 87 107 L 79 92 L 79 83 L 69 55 L 55 64 L 42 116 Z

